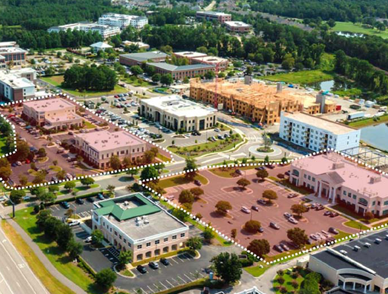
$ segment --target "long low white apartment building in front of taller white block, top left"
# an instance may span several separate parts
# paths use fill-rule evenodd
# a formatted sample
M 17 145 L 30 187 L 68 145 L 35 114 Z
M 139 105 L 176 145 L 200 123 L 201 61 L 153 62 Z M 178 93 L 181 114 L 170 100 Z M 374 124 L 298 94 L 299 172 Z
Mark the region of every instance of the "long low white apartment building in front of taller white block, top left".
M 79 23 L 72 23 L 72 24 L 67 24 L 63 26 L 51 27 L 47 31 L 60 32 L 60 31 L 67 31 L 67 30 L 85 31 L 85 32 L 97 31 L 102 36 L 103 39 L 109 38 L 111 36 L 114 36 L 120 33 L 119 27 L 100 25 L 100 24 L 89 23 L 89 22 L 79 22 Z

